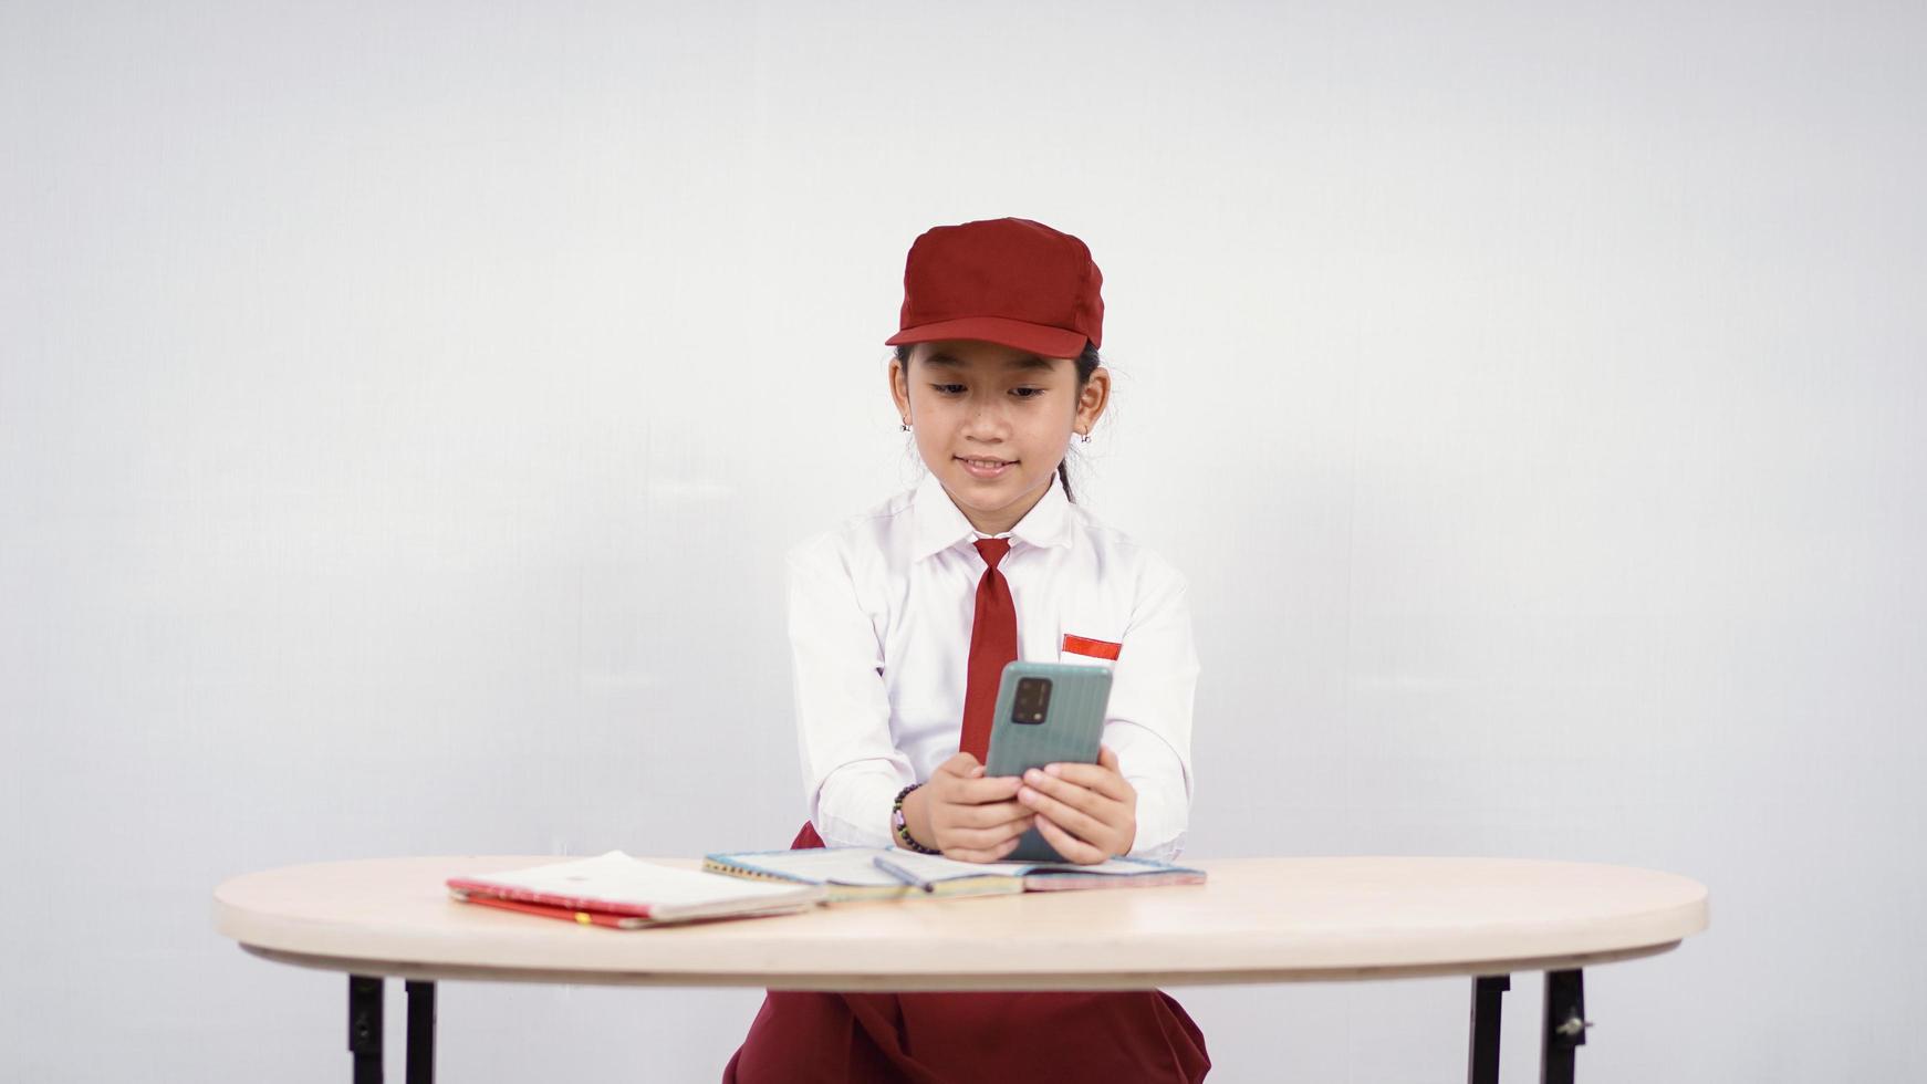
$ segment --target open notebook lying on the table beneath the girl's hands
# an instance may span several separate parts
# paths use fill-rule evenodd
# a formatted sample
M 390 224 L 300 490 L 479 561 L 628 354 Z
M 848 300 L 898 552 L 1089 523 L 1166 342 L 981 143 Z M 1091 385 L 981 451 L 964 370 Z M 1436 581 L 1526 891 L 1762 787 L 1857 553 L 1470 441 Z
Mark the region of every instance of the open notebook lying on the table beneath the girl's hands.
M 877 855 L 931 884 L 931 891 L 877 868 Z M 829 903 L 848 899 L 917 899 L 925 895 L 1008 895 L 1081 888 L 1150 888 L 1204 884 L 1204 870 L 1110 859 L 1073 863 L 960 863 L 898 847 L 811 847 L 804 851 L 740 851 L 707 855 L 703 868 L 757 882 L 805 884 L 825 890 Z

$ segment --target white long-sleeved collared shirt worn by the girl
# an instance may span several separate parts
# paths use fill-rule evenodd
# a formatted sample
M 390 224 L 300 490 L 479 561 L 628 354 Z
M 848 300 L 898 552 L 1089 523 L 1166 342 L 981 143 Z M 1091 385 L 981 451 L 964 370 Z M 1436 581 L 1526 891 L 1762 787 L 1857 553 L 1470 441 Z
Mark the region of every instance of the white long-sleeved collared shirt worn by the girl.
M 925 476 L 788 553 L 804 784 L 809 820 L 832 847 L 890 845 L 896 791 L 958 751 L 979 537 Z M 1199 674 L 1185 578 L 1071 504 L 1054 477 L 1008 537 L 998 572 L 1017 608 L 1017 658 L 1112 666 L 1104 743 L 1137 787 L 1131 855 L 1175 859 Z M 1116 662 L 1091 658 L 1068 651 L 1066 635 L 1122 649 Z

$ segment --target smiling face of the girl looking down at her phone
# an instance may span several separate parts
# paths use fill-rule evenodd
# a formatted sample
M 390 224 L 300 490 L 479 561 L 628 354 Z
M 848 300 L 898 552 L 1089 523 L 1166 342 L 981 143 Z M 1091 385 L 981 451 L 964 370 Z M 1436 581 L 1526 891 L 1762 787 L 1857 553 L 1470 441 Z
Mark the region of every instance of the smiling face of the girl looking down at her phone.
M 1071 433 L 1104 412 L 1110 374 L 1077 387 L 1075 358 L 1039 358 L 979 339 L 917 343 L 890 360 L 890 397 L 917 452 L 985 533 L 1008 531 L 1050 487 Z

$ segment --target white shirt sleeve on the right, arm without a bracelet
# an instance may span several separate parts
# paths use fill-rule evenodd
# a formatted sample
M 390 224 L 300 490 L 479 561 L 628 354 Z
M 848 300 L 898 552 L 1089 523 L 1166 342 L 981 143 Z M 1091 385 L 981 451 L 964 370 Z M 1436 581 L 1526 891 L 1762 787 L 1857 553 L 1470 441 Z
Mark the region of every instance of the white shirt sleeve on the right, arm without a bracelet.
M 1162 560 L 1145 572 L 1123 649 L 1112 668 L 1104 743 L 1137 789 L 1133 859 L 1172 861 L 1191 822 L 1191 707 L 1199 658 L 1191 639 L 1191 589 Z

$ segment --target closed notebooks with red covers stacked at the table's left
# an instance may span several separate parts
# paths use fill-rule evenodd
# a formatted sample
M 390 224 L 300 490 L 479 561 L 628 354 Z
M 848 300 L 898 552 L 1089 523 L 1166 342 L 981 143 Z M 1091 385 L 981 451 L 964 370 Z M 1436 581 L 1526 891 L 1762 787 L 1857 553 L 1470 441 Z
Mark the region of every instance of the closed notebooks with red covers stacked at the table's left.
M 825 897 L 821 886 L 744 882 L 646 863 L 622 851 L 493 874 L 451 876 L 447 888 L 449 895 L 462 903 L 619 930 L 701 918 L 788 915 L 805 911 Z

